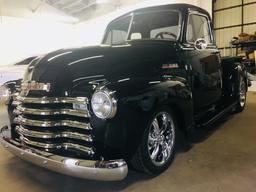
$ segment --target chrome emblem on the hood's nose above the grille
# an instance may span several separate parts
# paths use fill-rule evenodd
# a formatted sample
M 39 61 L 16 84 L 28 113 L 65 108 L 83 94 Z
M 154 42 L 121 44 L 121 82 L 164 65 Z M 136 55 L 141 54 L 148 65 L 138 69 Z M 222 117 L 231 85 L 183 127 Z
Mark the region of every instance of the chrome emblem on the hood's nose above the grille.
M 21 84 L 21 95 L 27 96 L 29 91 L 46 91 L 49 92 L 51 88 L 50 83 L 38 83 L 35 81 L 23 82 Z

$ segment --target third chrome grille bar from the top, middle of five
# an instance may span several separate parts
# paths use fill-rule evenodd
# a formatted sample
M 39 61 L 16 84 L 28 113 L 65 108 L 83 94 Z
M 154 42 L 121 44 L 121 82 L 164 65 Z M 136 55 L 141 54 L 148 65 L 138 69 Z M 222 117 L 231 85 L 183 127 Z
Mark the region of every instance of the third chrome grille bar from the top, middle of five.
M 72 121 L 72 120 L 56 120 L 56 121 L 40 121 L 40 120 L 32 120 L 27 119 L 22 116 L 18 116 L 14 119 L 14 123 L 28 126 L 36 126 L 36 127 L 73 127 L 73 128 L 81 128 L 85 130 L 92 130 L 90 124 Z

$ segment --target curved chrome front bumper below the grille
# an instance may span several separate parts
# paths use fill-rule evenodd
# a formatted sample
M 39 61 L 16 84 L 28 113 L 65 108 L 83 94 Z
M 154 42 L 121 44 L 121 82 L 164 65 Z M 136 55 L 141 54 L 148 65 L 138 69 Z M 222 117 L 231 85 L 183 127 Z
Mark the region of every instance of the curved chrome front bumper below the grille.
M 117 181 L 127 176 L 124 160 L 91 161 L 54 155 L 22 146 L 10 137 L 10 128 L 0 129 L 0 143 L 5 149 L 23 160 L 62 174 L 92 180 Z

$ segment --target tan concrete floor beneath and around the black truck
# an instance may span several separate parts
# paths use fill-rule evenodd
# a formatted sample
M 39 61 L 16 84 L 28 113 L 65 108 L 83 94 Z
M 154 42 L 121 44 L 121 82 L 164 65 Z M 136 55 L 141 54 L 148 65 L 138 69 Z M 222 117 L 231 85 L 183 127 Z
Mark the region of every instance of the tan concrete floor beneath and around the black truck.
M 77 191 L 256 191 L 256 92 L 246 110 L 200 131 L 202 141 L 179 152 L 162 175 L 130 171 L 121 182 L 80 180 L 19 160 L 0 147 L 0 192 Z

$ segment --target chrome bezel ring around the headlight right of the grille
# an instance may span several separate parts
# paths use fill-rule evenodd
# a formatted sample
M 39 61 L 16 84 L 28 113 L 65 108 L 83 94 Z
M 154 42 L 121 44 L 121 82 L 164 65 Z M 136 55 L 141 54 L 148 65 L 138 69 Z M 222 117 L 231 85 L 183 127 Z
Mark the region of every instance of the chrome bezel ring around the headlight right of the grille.
M 102 113 L 99 112 L 99 110 L 97 111 L 97 109 L 95 109 L 95 99 L 96 97 L 99 97 L 100 94 L 104 95 L 107 100 L 110 103 L 110 110 L 107 114 L 103 115 Z M 99 104 L 98 104 L 99 105 Z M 93 114 L 98 117 L 99 119 L 112 119 L 115 117 L 116 113 L 117 113 L 117 99 L 115 97 L 115 92 L 114 91 L 110 91 L 109 89 L 97 89 L 91 98 L 91 108 L 93 111 Z

